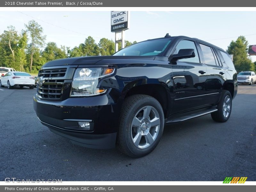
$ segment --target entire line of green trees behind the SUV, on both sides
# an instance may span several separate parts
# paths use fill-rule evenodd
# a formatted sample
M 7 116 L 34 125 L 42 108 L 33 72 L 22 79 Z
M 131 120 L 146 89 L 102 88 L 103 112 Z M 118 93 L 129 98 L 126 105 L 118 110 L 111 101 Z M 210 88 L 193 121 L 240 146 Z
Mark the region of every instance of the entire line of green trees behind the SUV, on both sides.
M 0 66 L 15 68 L 19 71 L 38 73 L 42 65 L 48 61 L 79 56 L 112 55 L 115 53 L 115 42 L 101 38 L 97 44 L 92 36 L 88 36 L 84 43 L 70 49 L 54 42 L 45 42 L 46 36 L 43 28 L 31 20 L 19 33 L 15 27 L 9 26 L 0 35 Z M 125 41 L 125 47 L 137 43 Z M 44 47 L 44 49 L 43 49 Z M 119 44 L 121 49 L 121 44 Z M 233 54 L 233 63 L 237 72 L 256 71 L 256 62 L 248 56 L 248 41 L 244 36 L 239 36 L 236 41 L 231 41 L 227 52 Z

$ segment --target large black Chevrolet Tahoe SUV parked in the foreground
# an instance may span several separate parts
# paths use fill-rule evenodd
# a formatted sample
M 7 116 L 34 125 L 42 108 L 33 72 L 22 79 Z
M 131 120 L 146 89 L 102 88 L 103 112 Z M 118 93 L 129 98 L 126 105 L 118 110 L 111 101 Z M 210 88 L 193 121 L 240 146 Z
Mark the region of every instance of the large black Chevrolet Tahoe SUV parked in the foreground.
M 164 124 L 211 114 L 226 122 L 237 93 L 227 52 L 186 36 L 143 41 L 112 56 L 50 61 L 40 69 L 34 109 L 42 124 L 89 148 L 145 156 Z

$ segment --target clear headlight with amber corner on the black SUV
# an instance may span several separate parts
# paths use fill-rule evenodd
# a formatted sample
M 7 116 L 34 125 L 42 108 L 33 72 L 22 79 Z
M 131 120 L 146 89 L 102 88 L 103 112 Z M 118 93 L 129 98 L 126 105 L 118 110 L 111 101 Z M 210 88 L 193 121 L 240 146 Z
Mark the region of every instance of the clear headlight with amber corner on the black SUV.
M 99 80 L 114 74 L 114 72 L 115 68 L 77 68 L 70 96 L 92 96 L 105 93 L 107 89 L 97 88 Z

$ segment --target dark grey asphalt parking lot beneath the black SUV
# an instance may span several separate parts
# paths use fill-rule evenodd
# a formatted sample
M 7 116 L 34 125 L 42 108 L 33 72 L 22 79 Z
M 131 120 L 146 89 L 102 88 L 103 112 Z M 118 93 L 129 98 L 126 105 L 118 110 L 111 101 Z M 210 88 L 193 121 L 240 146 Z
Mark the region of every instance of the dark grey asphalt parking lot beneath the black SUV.
M 210 115 L 166 125 L 148 156 L 90 149 L 49 131 L 36 117 L 36 89 L 0 88 L 0 180 L 223 181 L 256 180 L 256 84 L 239 85 L 228 122 Z

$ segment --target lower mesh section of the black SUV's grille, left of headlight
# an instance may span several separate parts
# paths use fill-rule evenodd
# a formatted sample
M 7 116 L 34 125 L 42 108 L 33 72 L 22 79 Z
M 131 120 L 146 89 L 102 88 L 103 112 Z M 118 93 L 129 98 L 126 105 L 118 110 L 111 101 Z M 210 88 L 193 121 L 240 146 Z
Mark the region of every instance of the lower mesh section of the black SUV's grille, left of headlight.
M 64 80 L 44 80 L 38 84 L 38 94 L 45 99 L 60 99 Z

